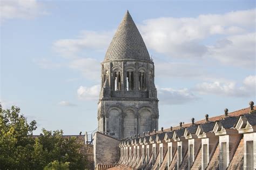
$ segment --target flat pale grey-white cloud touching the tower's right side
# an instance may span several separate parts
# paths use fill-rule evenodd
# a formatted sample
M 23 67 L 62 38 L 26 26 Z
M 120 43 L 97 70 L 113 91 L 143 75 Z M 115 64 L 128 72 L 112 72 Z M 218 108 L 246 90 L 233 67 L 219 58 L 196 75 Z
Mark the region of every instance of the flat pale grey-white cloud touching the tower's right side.
M 158 88 L 158 98 L 161 104 L 168 105 L 180 105 L 199 99 L 188 89 L 174 90 L 171 88 Z

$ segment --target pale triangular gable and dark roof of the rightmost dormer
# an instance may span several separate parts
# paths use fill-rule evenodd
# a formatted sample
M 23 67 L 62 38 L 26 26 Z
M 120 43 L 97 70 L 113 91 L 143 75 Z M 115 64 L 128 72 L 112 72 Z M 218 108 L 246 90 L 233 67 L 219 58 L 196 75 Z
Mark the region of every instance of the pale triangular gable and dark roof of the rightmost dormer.
M 238 133 L 256 132 L 256 114 L 240 115 L 235 124 L 235 129 L 238 130 Z

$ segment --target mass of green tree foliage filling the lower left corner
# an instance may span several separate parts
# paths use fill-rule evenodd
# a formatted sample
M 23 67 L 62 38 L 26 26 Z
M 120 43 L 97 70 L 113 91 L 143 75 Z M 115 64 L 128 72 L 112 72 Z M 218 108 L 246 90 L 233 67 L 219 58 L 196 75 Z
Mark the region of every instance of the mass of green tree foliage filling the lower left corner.
M 28 123 L 18 107 L 0 105 L 0 169 L 85 169 L 76 138 L 63 138 L 63 131 L 33 136 L 36 121 Z

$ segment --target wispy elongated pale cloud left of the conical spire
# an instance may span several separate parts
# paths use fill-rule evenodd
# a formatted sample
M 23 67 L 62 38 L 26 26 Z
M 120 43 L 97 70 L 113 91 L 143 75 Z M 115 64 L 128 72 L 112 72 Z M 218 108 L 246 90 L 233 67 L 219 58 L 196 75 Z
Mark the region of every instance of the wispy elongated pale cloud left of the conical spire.
M 53 43 L 55 49 L 61 56 L 74 58 L 82 50 L 104 50 L 110 44 L 113 31 L 81 31 L 74 39 L 59 39 Z

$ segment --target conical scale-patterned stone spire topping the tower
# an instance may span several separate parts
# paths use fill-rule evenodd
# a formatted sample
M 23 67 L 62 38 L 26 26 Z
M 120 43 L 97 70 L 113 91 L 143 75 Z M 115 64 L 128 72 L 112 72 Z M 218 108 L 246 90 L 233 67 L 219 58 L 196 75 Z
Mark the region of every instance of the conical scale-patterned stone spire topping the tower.
M 146 45 L 128 10 L 105 55 L 105 61 L 117 59 L 150 60 Z

